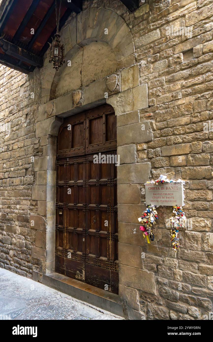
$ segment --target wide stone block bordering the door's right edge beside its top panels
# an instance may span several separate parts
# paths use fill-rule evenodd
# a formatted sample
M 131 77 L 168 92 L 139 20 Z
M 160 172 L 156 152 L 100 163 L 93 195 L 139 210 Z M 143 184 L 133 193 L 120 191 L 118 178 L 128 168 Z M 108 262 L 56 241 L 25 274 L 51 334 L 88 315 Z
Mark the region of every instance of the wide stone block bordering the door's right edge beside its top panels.
M 149 121 L 133 123 L 117 128 L 117 144 L 146 143 L 153 140 L 152 129 Z

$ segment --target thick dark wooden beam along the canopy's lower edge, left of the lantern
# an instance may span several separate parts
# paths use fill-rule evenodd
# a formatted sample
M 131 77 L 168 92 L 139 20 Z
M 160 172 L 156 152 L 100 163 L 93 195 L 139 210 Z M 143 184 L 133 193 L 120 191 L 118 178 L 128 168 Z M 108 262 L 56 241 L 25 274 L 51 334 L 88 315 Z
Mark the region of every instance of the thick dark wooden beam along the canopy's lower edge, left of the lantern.
M 17 45 L 10 43 L 3 38 L 0 38 L 0 48 L 6 55 L 17 58 L 22 62 L 29 63 L 36 67 L 43 66 L 43 59 L 41 57 L 36 56 L 25 49 L 19 48 Z

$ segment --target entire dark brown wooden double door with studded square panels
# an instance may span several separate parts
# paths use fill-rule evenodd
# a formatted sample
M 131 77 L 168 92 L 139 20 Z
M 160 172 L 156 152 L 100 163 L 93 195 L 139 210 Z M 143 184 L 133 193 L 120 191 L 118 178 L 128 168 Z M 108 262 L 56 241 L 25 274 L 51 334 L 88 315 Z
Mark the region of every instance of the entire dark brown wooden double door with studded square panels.
M 116 147 L 114 110 L 108 105 L 96 107 L 64 120 L 56 163 L 55 272 L 114 293 L 118 293 Z

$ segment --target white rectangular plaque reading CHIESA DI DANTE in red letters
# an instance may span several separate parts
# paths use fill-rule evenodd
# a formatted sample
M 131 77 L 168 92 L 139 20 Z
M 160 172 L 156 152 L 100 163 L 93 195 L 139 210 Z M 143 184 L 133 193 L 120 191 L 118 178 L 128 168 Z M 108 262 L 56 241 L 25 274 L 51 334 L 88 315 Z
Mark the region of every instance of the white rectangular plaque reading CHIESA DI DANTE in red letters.
M 183 206 L 183 183 L 146 183 L 146 205 Z

